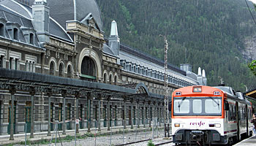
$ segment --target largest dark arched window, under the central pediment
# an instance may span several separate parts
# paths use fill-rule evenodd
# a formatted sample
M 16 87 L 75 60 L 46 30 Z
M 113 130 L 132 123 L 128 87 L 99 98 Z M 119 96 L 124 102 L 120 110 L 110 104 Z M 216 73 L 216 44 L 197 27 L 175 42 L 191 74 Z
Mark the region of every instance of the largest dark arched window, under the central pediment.
M 96 80 L 96 67 L 94 61 L 88 56 L 83 58 L 81 66 L 82 80 Z

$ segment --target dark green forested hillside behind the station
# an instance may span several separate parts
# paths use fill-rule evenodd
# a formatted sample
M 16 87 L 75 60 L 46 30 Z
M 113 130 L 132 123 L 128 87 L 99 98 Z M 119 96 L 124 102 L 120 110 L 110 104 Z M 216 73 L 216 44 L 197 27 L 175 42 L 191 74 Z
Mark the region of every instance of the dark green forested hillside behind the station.
M 97 0 L 105 37 L 116 20 L 121 43 L 156 58 L 164 58 L 164 34 L 170 43 L 168 62 L 189 63 L 193 72 L 206 69 L 208 85 L 226 85 L 245 91 L 256 88 L 256 79 L 241 52 L 245 39 L 256 34 L 241 0 Z M 249 2 L 252 7 L 252 3 Z M 256 16 L 255 12 L 254 15 Z

